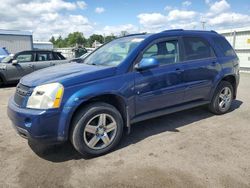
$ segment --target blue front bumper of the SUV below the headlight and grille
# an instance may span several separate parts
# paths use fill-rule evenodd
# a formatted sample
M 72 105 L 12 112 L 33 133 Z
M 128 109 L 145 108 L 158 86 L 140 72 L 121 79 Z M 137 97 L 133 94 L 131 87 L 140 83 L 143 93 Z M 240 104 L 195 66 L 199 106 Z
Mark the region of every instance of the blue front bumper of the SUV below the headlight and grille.
M 36 110 L 17 106 L 13 97 L 8 103 L 8 116 L 18 134 L 29 140 L 54 144 L 64 141 L 58 136 L 60 110 Z

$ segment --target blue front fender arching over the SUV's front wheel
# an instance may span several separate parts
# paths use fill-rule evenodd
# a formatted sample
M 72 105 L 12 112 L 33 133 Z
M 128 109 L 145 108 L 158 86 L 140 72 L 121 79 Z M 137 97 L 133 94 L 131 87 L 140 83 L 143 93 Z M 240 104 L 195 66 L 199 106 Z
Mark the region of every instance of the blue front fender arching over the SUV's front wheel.
M 108 78 L 106 81 L 98 80 L 94 83 L 90 82 L 70 88 L 69 90 L 72 91 L 70 93 L 67 93 L 66 89 L 64 98 L 67 100 L 64 101 L 58 127 L 58 138 L 60 140 L 68 139 L 70 122 L 78 107 L 95 97 L 102 95 L 118 96 L 124 102 L 128 116 L 133 116 L 135 113 L 134 109 L 131 109 L 131 106 L 134 106 L 134 88 L 131 87 L 131 84 L 134 84 L 133 76 L 121 75 L 117 79 L 120 79 L 121 82 Z M 129 111 L 128 106 L 130 107 Z M 129 122 L 128 119 L 130 118 L 125 119 L 126 124 Z

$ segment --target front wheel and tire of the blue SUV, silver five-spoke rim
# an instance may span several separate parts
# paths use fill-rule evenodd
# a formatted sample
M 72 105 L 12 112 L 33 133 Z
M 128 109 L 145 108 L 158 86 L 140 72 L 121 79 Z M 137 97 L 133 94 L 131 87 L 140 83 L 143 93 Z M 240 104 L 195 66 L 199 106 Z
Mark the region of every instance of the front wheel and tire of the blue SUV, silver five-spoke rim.
M 101 102 L 90 104 L 79 111 L 71 126 L 71 143 L 86 157 L 112 151 L 123 133 L 123 120 L 119 111 L 114 106 Z

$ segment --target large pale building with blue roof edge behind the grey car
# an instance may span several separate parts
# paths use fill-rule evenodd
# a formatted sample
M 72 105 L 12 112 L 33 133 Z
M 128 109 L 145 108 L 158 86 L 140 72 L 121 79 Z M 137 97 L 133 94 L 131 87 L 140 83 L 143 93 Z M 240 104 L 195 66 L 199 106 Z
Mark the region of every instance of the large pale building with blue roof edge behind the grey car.
M 32 32 L 0 29 L 0 47 L 5 47 L 10 53 L 32 50 Z

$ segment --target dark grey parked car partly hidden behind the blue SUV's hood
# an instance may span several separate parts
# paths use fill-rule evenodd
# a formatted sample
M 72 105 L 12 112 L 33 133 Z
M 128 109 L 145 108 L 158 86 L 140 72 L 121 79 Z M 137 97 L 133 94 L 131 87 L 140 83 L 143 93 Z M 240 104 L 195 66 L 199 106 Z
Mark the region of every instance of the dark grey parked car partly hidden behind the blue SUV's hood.
M 68 63 L 59 52 L 47 50 L 23 51 L 5 57 L 0 64 L 0 85 L 17 83 L 36 70 Z

